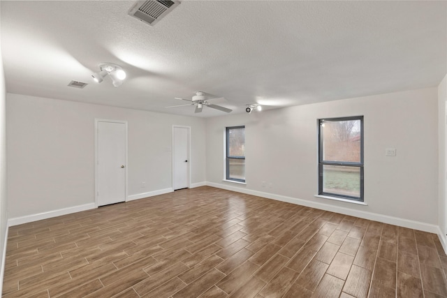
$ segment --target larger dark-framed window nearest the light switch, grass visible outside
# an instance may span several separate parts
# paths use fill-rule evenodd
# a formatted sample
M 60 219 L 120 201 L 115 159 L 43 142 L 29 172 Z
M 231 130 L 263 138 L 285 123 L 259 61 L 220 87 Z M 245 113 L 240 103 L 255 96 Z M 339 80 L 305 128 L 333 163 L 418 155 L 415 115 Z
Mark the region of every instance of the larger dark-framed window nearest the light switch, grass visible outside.
M 318 120 L 318 195 L 363 202 L 363 117 Z

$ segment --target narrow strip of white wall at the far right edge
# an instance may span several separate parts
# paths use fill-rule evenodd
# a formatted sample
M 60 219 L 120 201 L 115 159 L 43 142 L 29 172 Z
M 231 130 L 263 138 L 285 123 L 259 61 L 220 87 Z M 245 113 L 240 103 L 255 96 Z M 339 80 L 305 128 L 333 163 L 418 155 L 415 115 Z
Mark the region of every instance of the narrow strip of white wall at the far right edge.
M 439 181 L 438 181 L 438 193 L 439 193 L 439 229 L 441 230 L 442 242 L 444 249 L 446 245 L 446 125 L 447 125 L 447 75 L 442 80 L 438 87 L 438 150 L 439 150 Z M 446 249 L 447 251 L 447 249 Z

